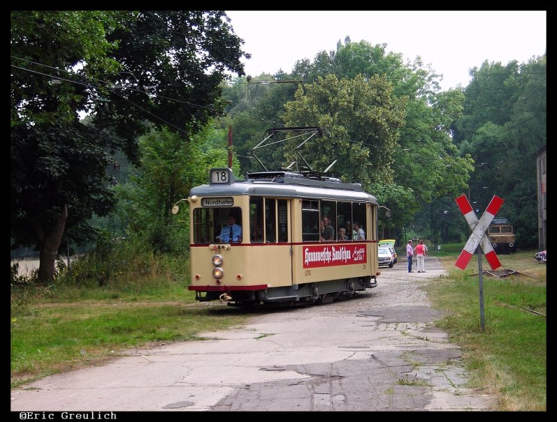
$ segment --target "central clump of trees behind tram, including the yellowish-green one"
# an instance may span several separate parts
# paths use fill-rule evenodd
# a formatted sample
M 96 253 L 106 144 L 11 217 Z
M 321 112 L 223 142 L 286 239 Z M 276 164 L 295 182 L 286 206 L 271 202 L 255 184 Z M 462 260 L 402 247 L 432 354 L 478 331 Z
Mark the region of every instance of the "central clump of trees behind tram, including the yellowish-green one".
M 313 61 L 299 60 L 291 74 L 237 79 L 224 94 L 242 169 L 257 168 L 249 150 L 269 127 L 322 126 L 334 136 L 312 155 L 315 166 L 322 170 L 340 157 L 331 172 L 363 183 L 389 207 L 392 217 L 381 214 L 379 226 L 400 238 L 416 212 L 429 215 L 425 204 L 466 190 L 473 170 L 451 138 L 464 95 L 439 92 L 437 79 L 420 58 L 403 63 L 386 44 L 350 38 Z

